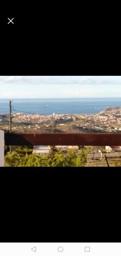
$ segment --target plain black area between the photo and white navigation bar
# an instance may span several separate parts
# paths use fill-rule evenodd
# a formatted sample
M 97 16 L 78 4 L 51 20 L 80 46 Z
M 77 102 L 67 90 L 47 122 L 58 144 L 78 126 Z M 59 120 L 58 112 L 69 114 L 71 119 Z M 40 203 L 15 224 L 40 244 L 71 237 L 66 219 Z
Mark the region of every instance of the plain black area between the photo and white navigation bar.
M 120 168 L 5 167 L 0 175 L 1 242 L 120 242 Z

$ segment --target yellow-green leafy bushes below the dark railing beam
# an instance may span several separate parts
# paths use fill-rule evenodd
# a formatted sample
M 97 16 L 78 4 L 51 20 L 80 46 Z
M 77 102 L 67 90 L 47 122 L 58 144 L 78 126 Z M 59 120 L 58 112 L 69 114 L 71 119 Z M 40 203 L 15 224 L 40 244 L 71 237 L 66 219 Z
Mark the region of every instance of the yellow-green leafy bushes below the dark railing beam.
M 89 148 L 81 150 L 67 150 L 64 155 L 62 150 L 58 150 L 49 156 L 36 156 L 32 150 L 16 150 L 7 153 L 5 156 L 5 165 L 12 167 L 79 167 L 85 166 Z

